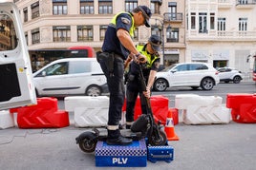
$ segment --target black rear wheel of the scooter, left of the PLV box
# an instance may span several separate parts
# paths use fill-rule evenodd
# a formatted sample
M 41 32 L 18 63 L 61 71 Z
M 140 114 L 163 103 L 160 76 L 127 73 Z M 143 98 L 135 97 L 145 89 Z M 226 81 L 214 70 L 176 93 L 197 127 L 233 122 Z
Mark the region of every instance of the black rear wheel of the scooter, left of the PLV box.
M 80 139 L 79 147 L 83 152 L 91 153 L 96 150 L 96 140 L 85 136 L 82 139 Z

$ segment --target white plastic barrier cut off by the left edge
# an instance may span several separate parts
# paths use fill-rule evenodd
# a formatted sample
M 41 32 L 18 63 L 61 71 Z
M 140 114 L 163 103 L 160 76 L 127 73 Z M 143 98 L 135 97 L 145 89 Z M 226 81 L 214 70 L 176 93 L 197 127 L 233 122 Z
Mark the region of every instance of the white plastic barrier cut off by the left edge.
M 9 110 L 0 111 L 0 129 L 14 127 L 14 116 Z

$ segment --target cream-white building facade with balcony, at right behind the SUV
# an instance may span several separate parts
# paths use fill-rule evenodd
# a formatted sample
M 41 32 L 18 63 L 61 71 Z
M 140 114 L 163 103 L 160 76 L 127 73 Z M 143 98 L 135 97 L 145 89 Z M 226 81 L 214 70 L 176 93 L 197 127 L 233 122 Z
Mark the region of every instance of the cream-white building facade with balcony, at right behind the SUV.
M 255 0 L 187 0 L 186 61 L 251 72 L 256 51 Z

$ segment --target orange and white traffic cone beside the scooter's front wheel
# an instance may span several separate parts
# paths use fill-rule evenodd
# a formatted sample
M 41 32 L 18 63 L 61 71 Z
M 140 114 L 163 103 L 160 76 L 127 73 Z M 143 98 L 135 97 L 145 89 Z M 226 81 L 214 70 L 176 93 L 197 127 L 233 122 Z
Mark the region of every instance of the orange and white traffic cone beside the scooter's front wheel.
M 179 137 L 176 135 L 174 131 L 173 114 L 171 109 L 169 109 L 168 111 L 164 131 L 166 133 L 168 141 L 179 141 Z

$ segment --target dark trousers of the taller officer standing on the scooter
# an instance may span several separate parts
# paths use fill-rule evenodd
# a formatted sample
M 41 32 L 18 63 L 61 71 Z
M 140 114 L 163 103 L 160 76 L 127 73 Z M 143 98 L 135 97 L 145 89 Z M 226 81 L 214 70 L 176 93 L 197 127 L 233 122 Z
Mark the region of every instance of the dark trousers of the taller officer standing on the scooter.
M 109 120 L 108 125 L 118 125 L 121 120 L 122 105 L 124 103 L 124 81 L 123 81 L 123 59 L 120 55 L 114 54 L 114 69 L 110 73 L 107 67 L 108 59 L 99 58 L 98 62 L 107 78 L 110 92 Z

